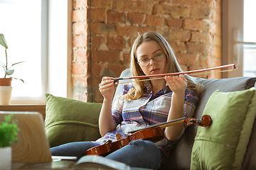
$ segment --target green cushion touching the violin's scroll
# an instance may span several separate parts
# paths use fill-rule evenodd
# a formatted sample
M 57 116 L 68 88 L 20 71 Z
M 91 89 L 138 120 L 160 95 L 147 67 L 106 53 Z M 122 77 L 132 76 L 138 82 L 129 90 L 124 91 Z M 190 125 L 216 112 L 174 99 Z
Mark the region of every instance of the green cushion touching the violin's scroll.
M 222 92 L 209 98 L 203 115 L 209 127 L 198 127 L 191 154 L 191 169 L 241 169 L 255 120 L 255 88 Z

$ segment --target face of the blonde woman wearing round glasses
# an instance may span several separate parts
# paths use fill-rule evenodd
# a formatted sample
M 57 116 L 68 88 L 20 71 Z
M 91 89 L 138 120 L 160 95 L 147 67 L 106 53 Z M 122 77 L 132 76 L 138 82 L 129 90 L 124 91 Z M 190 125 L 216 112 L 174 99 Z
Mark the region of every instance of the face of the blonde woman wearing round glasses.
M 154 40 L 142 42 L 137 48 L 136 55 L 139 67 L 145 75 L 164 74 L 166 55 L 158 42 Z M 147 62 L 149 64 L 145 66 Z

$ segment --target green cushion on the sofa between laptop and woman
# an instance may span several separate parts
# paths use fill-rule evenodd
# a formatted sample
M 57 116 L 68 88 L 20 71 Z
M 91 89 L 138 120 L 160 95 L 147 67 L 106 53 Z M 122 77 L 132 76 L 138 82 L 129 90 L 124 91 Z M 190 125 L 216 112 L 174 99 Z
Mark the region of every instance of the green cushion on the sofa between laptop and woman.
M 46 94 L 46 135 L 50 147 L 100 138 L 98 118 L 102 103 L 85 103 Z

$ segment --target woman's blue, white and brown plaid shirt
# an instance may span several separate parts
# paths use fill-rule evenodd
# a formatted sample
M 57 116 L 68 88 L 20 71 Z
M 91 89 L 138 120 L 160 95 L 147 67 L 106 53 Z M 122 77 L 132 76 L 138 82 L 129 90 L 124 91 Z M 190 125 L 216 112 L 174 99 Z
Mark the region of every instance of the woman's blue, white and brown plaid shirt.
M 145 81 L 145 86 L 144 94 L 141 98 L 129 101 L 122 100 L 120 96 L 127 94 L 129 89 L 132 89 L 134 86 L 132 84 L 125 84 L 122 87 L 121 93 L 117 96 L 116 101 L 112 105 L 114 131 L 107 133 L 104 137 L 93 142 L 95 145 L 102 145 L 108 140 L 112 142 L 116 141 L 117 133 L 124 138 L 130 135 L 128 133 L 129 131 L 167 121 L 173 92 L 167 84 L 164 89 L 161 89 L 161 91 L 156 94 L 152 94 L 150 81 Z M 193 91 L 186 89 L 183 106 L 184 117 L 190 118 L 193 116 L 196 106 L 198 105 L 198 100 L 198 96 L 193 93 Z M 168 156 L 169 150 L 171 150 L 174 143 L 175 141 L 169 141 L 167 137 L 156 142 L 156 145 L 159 146 L 161 150 L 162 158 Z

